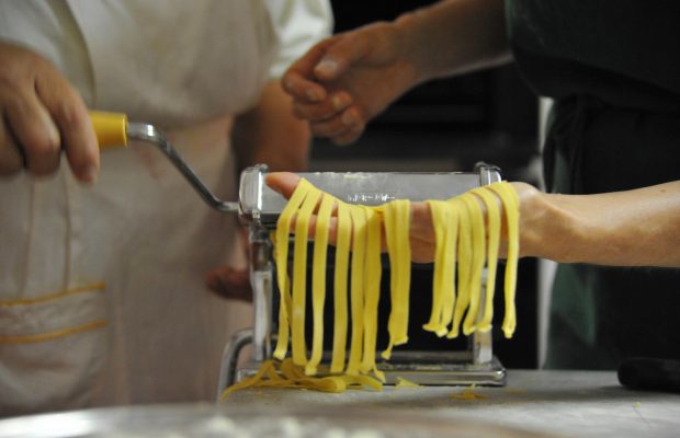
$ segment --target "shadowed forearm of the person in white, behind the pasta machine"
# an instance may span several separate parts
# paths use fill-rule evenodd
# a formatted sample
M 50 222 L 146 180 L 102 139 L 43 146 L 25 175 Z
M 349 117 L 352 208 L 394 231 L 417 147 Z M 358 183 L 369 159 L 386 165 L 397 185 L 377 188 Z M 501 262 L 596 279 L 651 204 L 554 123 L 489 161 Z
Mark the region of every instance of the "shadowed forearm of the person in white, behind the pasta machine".
M 272 171 L 297 172 L 307 166 L 309 127 L 294 117 L 277 81 L 265 85 L 253 110 L 236 118 L 231 141 L 240 169 L 265 163 Z

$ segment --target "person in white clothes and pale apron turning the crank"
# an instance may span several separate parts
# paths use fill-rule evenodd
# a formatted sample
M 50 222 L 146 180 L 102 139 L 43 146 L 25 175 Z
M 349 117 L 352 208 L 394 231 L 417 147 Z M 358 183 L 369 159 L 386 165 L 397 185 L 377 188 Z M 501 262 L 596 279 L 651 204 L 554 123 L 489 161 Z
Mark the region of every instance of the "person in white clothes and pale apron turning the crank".
M 246 266 L 237 218 L 154 147 L 100 158 L 88 110 L 162 129 L 235 200 L 246 165 L 306 165 L 279 78 L 331 21 L 325 0 L 0 2 L 0 416 L 214 400 L 252 313 L 204 283 Z

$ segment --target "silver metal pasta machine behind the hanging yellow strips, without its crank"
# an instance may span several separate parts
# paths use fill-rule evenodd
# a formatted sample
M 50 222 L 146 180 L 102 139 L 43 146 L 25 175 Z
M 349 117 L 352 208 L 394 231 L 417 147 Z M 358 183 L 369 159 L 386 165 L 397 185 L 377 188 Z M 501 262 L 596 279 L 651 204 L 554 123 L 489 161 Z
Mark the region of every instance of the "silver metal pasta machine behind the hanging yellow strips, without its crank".
M 257 165 L 243 171 L 240 178 L 239 215 L 250 228 L 250 281 L 254 322 L 251 328 L 235 334 L 225 347 L 218 393 L 227 385 L 254 373 L 263 360 L 271 358 L 273 351 L 279 320 L 279 291 L 269 235 L 275 229 L 286 200 L 267 186 L 267 173 L 265 165 Z M 498 169 L 487 164 L 478 164 L 475 172 L 468 173 L 317 172 L 299 175 L 339 199 L 369 206 L 397 198 L 447 199 L 500 181 Z M 328 290 L 330 292 L 330 288 Z M 419 290 L 418 293 L 431 296 L 431 289 Z M 381 296 L 386 296 L 384 290 Z M 421 330 L 424 322 L 415 321 L 413 325 L 417 326 L 409 327 L 409 335 L 415 330 Z M 435 338 L 433 334 L 431 336 Z M 435 342 L 446 345 L 451 341 L 437 338 Z M 245 365 L 239 365 L 239 356 L 248 345 L 251 346 L 251 358 Z M 378 345 L 383 345 L 379 339 Z M 325 354 L 325 362 L 329 361 L 327 357 Z M 464 337 L 462 348 L 458 346 L 457 349 L 403 350 L 397 347 L 389 362 L 378 362 L 378 368 L 385 372 L 387 383 L 394 383 L 397 377 L 429 385 L 503 385 L 506 382 L 506 370 L 492 354 L 491 332 L 475 332 Z

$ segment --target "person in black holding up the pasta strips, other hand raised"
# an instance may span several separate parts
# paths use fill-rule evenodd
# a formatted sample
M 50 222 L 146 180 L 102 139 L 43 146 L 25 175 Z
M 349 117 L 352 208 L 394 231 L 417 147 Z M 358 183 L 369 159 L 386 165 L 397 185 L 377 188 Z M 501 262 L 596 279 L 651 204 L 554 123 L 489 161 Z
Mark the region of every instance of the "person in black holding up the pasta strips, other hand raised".
M 347 143 L 410 88 L 513 59 L 555 102 L 552 194 L 514 183 L 522 255 L 560 262 L 545 366 L 612 369 L 680 357 L 678 19 L 672 2 L 449 0 L 321 42 L 282 83 L 314 134 Z

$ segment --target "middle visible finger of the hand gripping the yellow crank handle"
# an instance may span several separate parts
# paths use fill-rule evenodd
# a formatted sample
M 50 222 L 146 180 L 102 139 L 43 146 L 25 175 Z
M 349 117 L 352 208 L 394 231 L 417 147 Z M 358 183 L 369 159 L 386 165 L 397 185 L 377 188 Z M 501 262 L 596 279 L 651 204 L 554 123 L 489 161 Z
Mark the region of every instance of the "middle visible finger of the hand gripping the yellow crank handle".
M 60 138 L 49 112 L 35 94 L 4 96 L 4 116 L 25 165 L 34 175 L 48 175 L 59 168 Z

